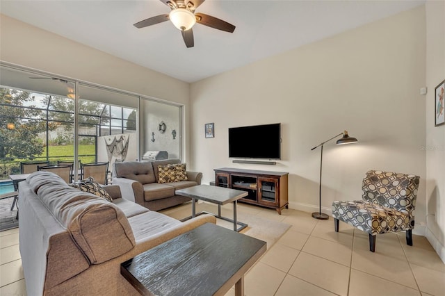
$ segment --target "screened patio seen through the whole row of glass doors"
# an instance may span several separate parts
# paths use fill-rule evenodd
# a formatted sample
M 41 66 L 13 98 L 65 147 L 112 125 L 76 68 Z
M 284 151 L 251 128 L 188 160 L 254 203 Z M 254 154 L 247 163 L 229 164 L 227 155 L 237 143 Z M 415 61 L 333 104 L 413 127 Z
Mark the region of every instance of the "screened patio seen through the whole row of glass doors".
M 24 161 L 112 168 L 154 149 L 181 158 L 181 106 L 1 63 L 0 180 Z

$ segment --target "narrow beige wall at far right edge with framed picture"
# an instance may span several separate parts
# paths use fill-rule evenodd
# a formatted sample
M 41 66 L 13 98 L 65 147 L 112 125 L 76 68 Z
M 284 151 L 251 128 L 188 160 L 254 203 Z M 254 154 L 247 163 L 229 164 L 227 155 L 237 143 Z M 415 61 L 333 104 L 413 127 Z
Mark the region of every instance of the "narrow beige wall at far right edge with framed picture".
M 445 125 L 434 126 L 435 87 L 445 79 L 445 2 L 426 3 L 426 236 L 445 262 Z

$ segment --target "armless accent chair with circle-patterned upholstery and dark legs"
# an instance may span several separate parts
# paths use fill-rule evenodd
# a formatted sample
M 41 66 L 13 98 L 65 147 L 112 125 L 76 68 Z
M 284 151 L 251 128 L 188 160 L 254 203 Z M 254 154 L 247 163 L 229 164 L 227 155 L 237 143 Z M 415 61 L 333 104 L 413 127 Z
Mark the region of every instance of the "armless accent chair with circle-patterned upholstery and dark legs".
M 362 183 L 362 200 L 333 202 L 335 231 L 339 221 L 369 233 L 369 250 L 375 252 L 375 236 L 406 231 L 406 243 L 412 246 L 414 209 L 419 176 L 371 170 Z

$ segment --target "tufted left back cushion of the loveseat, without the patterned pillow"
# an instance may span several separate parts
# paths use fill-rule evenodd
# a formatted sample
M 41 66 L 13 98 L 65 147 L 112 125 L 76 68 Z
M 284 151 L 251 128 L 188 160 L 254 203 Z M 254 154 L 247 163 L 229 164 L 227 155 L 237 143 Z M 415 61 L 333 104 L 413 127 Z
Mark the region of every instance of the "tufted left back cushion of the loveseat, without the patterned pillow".
M 154 183 L 156 178 L 151 162 L 124 161 L 115 163 L 115 174 L 118 178 L 126 178 L 143 184 Z

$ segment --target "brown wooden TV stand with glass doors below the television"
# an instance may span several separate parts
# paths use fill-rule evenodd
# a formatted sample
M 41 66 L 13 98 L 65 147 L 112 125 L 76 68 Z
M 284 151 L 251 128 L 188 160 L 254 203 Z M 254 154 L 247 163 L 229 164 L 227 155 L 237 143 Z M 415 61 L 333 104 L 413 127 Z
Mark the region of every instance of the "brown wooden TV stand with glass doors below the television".
M 248 192 L 239 202 L 275 208 L 281 215 L 288 208 L 288 172 L 242 170 L 231 167 L 215 169 L 215 185 Z

